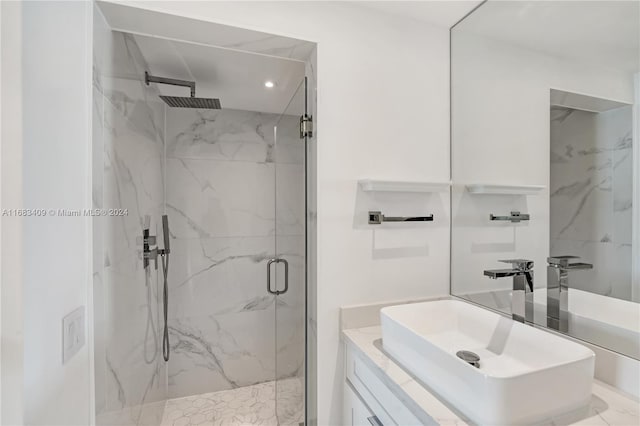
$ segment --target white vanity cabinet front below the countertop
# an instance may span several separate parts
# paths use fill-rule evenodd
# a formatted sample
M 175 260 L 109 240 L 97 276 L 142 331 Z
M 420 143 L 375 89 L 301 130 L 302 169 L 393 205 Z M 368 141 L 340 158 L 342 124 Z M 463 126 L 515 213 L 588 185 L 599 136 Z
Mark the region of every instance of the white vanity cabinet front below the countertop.
M 346 345 L 343 425 L 414 426 L 419 421 L 373 370 Z M 433 423 L 435 424 L 435 423 Z

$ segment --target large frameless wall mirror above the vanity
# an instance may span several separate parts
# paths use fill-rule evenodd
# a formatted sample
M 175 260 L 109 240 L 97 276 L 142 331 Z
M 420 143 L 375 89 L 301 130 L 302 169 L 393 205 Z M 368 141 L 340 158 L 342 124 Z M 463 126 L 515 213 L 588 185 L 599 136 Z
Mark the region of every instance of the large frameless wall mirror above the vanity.
M 640 359 L 640 2 L 484 2 L 451 85 L 451 293 Z

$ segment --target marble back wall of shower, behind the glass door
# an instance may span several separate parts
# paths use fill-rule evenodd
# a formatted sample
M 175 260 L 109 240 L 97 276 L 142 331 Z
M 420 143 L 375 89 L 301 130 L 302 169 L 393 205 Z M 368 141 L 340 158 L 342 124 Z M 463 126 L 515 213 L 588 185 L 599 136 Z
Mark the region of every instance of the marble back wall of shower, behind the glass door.
M 276 123 L 251 111 L 166 110 L 171 398 L 303 370 L 304 145 L 297 116 L 280 120 L 277 143 Z M 277 340 L 266 290 L 275 253 L 290 265 Z

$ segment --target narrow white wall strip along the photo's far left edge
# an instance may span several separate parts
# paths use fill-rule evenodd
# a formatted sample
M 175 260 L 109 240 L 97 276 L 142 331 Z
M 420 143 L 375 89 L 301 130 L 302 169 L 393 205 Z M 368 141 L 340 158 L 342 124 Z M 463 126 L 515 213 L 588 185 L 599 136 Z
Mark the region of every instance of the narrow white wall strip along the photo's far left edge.
M 22 207 L 22 99 L 21 8 L 17 2 L 0 3 L 1 11 L 1 199 L 2 209 Z M 22 223 L 4 216 L 0 288 L 2 341 L 0 390 L 4 425 L 22 423 Z

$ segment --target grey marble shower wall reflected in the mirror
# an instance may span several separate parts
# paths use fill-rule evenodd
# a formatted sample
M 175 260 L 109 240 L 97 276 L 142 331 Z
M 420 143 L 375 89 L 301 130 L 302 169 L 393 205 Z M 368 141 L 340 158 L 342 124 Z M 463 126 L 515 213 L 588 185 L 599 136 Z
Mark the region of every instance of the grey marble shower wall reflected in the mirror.
M 580 256 L 571 286 L 631 300 L 632 107 L 551 110 L 551 254 Z

